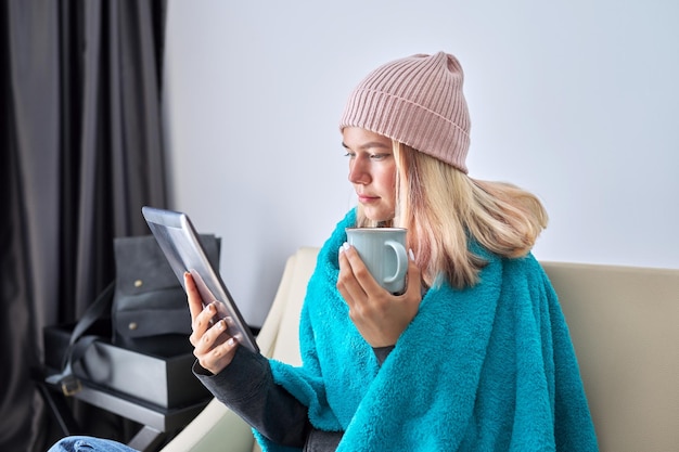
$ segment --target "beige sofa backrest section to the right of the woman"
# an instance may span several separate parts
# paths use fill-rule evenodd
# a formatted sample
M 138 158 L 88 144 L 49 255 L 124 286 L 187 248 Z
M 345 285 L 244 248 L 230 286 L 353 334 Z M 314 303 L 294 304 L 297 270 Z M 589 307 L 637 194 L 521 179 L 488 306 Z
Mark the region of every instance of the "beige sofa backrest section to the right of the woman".
M 679 451 L 679 270 L 542 262 L 602 451 Z

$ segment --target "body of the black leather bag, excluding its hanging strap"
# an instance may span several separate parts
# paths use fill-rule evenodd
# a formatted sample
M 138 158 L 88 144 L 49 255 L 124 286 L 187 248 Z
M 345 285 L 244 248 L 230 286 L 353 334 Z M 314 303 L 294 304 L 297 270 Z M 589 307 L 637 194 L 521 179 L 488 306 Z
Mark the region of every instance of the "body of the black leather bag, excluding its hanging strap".
M 217 269 L 219 238 L 212 234 L 200 237 L 207 258 Z M 155 237 L 115 238 L 114 251 L 113 344 L 164 357 L 191 351 L 187 295 Z

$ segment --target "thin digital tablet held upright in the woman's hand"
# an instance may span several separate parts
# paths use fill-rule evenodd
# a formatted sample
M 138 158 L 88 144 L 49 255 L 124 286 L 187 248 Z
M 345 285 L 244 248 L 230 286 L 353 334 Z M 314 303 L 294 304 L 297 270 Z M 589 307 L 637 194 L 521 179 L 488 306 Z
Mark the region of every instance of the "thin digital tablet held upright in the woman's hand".
M 207 259 L 198 234 L 189 217 L 180 211 L 149 206 L 142 207 L 141 212 L 181 286 L 184 287 L 184 272 L 190 272 L 203 298 L 203 306 L 219 301 L 216 305 L 217 318 L 227 319 L 228 333 L 242 346 L 258 353 L 259 347 L 255 337 L 221 281 L 219 270 L 214 269 Z

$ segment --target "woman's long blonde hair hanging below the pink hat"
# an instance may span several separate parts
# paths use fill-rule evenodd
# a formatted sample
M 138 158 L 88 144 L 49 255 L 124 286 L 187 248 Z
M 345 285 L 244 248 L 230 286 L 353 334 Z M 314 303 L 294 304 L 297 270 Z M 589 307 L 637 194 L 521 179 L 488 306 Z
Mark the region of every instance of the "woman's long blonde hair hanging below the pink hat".
M 515 185 L 474 180 L 459 169 L 394 141 L 396 212 L 390 222 L 408 229 L 408 246 L 426 284 L 441 279 L 458 288 L 473 286 L 485 261 L 469 241 L 501 257 L 533 248 L 547 228 L 540 201 Z M 357 224 L 375 227 L 358 208 Z

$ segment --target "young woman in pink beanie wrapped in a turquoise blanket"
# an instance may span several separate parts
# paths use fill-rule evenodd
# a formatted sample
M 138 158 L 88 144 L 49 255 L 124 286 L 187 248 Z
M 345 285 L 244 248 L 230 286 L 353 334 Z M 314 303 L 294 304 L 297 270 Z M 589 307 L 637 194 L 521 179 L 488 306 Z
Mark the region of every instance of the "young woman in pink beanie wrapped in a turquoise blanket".
M 567 326 L 530 254 L 547 214 L 530 193 L 467 176 L 462 82 L 439 52 L 389 62 L 351 93 L 341 131 L 358 206 L 319 253 L 300 367 L 239 347 L 187 276 L 194 373 L 264 450 L 598 450 Z M 382 225 L 408 229 L 402 295 L 346 244 L 346 228 Z

